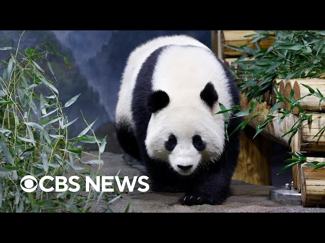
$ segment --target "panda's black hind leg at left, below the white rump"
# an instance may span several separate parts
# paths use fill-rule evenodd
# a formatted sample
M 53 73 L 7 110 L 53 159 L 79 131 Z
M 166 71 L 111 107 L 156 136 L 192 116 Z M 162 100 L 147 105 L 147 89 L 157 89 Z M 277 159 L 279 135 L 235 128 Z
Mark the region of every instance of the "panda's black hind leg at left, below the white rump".
M 115 131 L 122 149 L 134 158 L 141 160 L 137 139 L 132 128 L 126 123 L 116 123 Z

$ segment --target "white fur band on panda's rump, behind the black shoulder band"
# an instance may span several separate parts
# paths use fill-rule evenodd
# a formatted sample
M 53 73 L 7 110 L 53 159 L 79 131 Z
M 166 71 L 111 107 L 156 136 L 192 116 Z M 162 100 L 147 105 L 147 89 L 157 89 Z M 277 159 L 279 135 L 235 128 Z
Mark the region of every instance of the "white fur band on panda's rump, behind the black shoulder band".
M 162 36 L 154 38 L 151 41 L 148 41 L 147 43 L 137 47 L 128 57 L 126 67 L 121 79 L 121 86 L 118 94 L 115 116 L 117 124 L 123 119 L 123 122 L 127 122 L 127 124 L 131 126 L 132 129 L 135 128 L 132 115 L 132 93 L 136 84 L 138 73 L 146 58 L 159 47 L 166 45 L 191 45 L 209 49 L 201 42 L 186 35 Z M 160 85 L 163 86 L 163 84 L 154 84 L 154 88 L 159 87 Z M 171 89 L 173 88 L 172 86 L 169 87 Z M 178 87 L 184 87 L 184 84 L 179 84 Z M 201 85 L 198 88 L 201 88 Z

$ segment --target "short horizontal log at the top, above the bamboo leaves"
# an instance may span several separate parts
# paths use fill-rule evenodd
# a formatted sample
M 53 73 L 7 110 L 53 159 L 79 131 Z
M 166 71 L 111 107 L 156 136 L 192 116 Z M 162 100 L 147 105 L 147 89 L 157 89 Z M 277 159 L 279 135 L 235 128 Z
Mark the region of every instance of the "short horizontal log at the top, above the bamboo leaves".
M 251 34 L 256 34 L 256 32 L 253 30 L 222 30 L 220 35 L 222 59 L 226 57 L 238 57 L 243 54 L 240 51 L 225 47 L 224 45 L 235 47 L 247 45 L 248 47 L 255 48 L 255 44 L 250 43 L 253 37 L 245 37 Z M 259 48 L 268 49 L 273 43 L 274 37 L 270 37 L 265 41 L 259 42 Z

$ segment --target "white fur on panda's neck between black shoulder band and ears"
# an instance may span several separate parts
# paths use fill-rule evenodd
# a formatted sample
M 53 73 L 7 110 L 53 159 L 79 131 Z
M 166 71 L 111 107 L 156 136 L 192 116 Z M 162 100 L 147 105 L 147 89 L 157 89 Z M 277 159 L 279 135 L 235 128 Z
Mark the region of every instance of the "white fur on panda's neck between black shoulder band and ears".
M 211 82 L 218 94 L 218 102 L 230 107 L 232 97 L 229 80 L 212 52 L 197 47 L 171 46 L 161 52 L 152 80 L 153 90 L 165 91 L 171 107 L 193 105 L 202 107 L 200 93 Z M 212 113 L 220 110 L 216 103 Z M 223 115 L 215 115 L 221 119 Z

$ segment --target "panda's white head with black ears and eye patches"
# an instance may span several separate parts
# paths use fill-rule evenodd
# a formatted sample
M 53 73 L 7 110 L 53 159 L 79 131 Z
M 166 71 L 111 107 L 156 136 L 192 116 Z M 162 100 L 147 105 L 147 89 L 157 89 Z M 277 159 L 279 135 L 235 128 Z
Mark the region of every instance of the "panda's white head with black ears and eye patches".
M 193 100 L 176 102 L 158 90 L 146 102 L 152 113 L 145 140 L 148 155 L 167 161 L 184 176 L 213 163 L 221 155 L 225 140 L 223 116 L 215 114 L 218 94 L 213 84 L 207 83 Z

